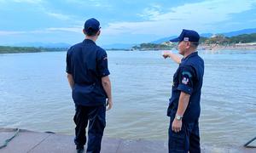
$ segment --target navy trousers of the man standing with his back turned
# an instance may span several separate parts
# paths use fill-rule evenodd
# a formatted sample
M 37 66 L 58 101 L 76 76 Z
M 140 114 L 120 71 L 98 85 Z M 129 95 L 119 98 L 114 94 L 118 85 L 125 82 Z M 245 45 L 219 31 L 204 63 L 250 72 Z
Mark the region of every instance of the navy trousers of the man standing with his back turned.
M 73 121 L 76 124 L 76 137 L 74 143 L 77 147 L 84 146 L 86 143 L 85 128 L 89 121 L 87 153 L 99 153 L 101 151 L 103 131 L 106 127 L 106 105 L 75 106 L 76 113 Z

